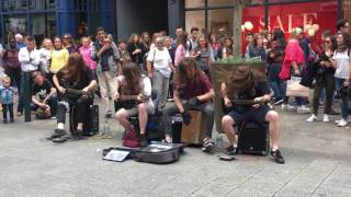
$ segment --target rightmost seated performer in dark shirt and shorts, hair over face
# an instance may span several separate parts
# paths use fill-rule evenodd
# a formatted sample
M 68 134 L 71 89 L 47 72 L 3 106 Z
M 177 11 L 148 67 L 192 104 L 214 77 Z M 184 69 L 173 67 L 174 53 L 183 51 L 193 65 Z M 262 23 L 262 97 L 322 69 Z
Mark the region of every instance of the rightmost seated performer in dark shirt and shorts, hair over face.
M 222 127 L 230 142 L 227 152 L 234 155 L 237 151 L 237 135 L 234 125 L 241 125 L 244 121 L 270 124 L 272 139 L 271 155 L 278 163 L 285 163 L 279 150 L 279 114 L 270 109 L 267 102 L 271 100 L 270 88 L 267 79 L 258 71 L 249 67 L 240 67 L 233 71 L 222 84 L 222 92 L 226 107 L 233 107 L 222 118 Z M 259 104 L 235 105 L 233 100 L 253 100 Z

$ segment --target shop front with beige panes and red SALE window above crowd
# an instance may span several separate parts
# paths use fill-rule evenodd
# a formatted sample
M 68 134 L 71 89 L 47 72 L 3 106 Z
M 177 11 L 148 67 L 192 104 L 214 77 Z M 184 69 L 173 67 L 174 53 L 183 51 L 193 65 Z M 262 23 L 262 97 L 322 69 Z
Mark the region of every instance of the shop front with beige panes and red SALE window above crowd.
M 203 32 L 233 35 L 233 0 L 185 0 L 185 30 L 197 26 Z M 336 31 L 336 22 L 351 20 L 351 0 L 251 0 L 244 10 L 242 34 L 281 28 L 288 36 L 297 26 L 318 25 L 317 35 L 324 30 Z

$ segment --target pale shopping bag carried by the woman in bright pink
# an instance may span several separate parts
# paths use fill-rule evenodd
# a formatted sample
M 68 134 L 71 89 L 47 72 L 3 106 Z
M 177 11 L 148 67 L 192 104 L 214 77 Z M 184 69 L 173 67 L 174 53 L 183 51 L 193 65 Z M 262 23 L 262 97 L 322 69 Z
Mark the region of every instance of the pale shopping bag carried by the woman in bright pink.
M 286 83 L 286 95 L 296 97 L 308 97 L 309 88 L 301 84 L 301 77 L 292 77 Z

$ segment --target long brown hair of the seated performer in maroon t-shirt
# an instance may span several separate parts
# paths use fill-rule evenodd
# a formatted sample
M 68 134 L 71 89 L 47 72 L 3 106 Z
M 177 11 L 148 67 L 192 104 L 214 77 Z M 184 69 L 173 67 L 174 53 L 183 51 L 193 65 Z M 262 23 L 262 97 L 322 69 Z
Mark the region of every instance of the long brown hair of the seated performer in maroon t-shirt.
M 186 70 L 188 69 L 194 69 L 194 80 L 199 81 L 202 71 L 200 68 L 196 66 L 196 61 L 194 58 L 185 57 L 182 61 L 180 61 L 178 66 L 178 70 L 176 72 L 176 86 L 183 88 L 185 86 L 186 80 L 188 80 L 188 74 Z

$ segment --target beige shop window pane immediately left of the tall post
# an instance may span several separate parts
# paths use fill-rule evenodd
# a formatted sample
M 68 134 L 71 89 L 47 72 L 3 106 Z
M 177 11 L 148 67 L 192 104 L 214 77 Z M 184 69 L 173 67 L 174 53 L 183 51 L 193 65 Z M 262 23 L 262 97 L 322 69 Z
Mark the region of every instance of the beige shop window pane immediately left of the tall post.
M 207 24 L 211 33 L 233 35 L 233 9 L 210 10 Z

